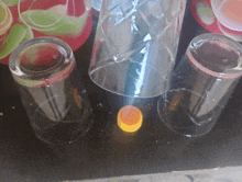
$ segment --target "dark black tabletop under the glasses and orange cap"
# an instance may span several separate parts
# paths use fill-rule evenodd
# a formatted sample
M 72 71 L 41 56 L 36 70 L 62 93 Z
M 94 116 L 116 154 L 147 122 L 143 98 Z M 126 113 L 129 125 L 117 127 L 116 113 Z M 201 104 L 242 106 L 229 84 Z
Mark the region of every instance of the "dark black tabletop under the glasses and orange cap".
M 87 136 L 68 146 L 38 140 L 29 124 L 14 82 L 1 65 L 0 181 L 65 181 L 156 172 L 242 166 L 242 81 L 207 135 L 187 138 L 170 132 L 158 118 L 156 98 L 136 100 L 144 112 L 141 129 L 127 135 L 117 126 L 124 98 L 95 86 L 87 76 L 97 20 L 88 41 L 75 52 L 91 100 L 95 124 Z M 177 59 L 190 39 L 202 32 L 185 14 Z

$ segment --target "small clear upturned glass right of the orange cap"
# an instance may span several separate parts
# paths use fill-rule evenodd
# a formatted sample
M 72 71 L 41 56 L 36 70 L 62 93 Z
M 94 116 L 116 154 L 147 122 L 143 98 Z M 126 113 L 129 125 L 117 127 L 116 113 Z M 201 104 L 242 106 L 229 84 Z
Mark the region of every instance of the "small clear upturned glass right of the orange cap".
M 161 120 L 182 135 L 207 134 L 242 75 L 242 47 L 218 34 L 195 37 L 176 67 L 170 90 L 158 99 Z

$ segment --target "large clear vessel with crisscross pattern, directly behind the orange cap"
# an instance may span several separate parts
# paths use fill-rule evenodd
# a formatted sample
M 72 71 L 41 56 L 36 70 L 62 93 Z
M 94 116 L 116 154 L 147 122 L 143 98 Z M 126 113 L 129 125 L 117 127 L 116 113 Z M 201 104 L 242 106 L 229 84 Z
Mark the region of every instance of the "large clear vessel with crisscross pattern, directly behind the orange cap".
M 102 89 L 151 98 L 169 88 L 186 0 L 103 0 L 89 67 Z

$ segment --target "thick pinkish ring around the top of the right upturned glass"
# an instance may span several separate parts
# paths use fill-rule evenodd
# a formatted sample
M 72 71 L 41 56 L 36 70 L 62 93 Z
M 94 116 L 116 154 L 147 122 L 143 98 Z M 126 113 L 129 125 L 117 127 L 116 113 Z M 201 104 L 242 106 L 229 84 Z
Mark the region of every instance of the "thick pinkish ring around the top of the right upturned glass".
M 238 72 L 234 72 L 234 73 L 228 73 L 228 72 L 217 72 L 217 71 L 213 71 L 205 66 L 202 66 L 201 64 L 199 64 L 195 58 L 194 56 L 191 55 L 191 52 L 190 52 L 190 46 L 193 43 L 196 43 L 196 42 L 199 42 L 201 39 L 208 39 L 208 41 L 212 41 L 212 39 L 220 39 L 222 41 L 223 43 L 227 43 L 228 45 L 233 45 L 233 47 L 237 48 L 237 50 L 242 55 L 242 45 L 240 45 L 240 43 L 238 43 L 237 41 L 230 38 L 230 37 L 227 37 L 224 35 L 220 35 L 220 34 L 215 34 L 215 33 L 205 33 L 205 34 L 200 34 L 196 37 L 194 37 L 190 43 L 189 43 L 189 46 L 187 47 L 187 50 L 186 50 L 186 56 L 188 57 L 189 61 L 198 69 L 200 69 L 202 72 L 205 73 L 208 73 L 212 77 L 217 77 L 217 78 L 238 78 L 240 76 L 242 76 L 242 67 L 241 69 L 238 71 Z

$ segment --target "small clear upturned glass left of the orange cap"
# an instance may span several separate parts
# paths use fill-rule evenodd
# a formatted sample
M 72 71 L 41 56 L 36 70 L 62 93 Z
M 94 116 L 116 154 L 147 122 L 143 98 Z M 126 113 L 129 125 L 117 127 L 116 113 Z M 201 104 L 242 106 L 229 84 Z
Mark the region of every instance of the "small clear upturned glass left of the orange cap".
M 40 37 L 10 56 L 10 71 L 35 135 L 51 144 L 69 144 L 91 127 L 91 107 L 70 47 Z

